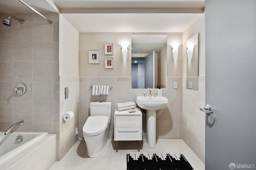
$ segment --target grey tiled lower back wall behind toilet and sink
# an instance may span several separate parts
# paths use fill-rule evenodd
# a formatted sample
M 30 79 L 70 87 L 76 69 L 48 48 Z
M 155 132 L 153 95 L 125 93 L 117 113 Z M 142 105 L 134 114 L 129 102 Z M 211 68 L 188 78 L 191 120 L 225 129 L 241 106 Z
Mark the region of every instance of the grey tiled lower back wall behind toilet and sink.
M 178 89 L 173 89 L 173 82 L 178 82 Z M 90 86 L 108 85 L 113 89 L 108 96 L 92 96 Z M 114 111 L 116 103 L 134 101 L 136 97 L 146 93 L 148 89 L 131 89 L 131 77 L 80 77 L 80 107 L 79 125 L 82 127 L 90 115 L 90 102 L 111 101 L 112 121 L 110 123 L 109 138 L 114 138 Z M 168 88 L 162 89 L 163 96 L 168 98 L 166 108 L 156 113 L 156 136 L 157 138 L 182 138 L 182 77 L 168 77 Z M 153 89 L 157 93 L 157 89 Z M 146 138 L 146 117 L 143 117 L 143 138 Z M 80 136 L 82 137 L 82 136 Z

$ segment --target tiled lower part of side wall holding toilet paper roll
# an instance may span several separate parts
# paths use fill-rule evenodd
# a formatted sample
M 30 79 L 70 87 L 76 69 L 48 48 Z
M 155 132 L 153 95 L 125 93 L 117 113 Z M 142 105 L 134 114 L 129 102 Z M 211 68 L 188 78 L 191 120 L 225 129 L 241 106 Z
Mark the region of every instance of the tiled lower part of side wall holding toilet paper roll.
M 68 150 L 77 141 L 75 128 L 79 122 L 79 77 L 60 76 L 58 83 L 56 81 L 54 94 L 54 105 L 56 105 L 56 115 L 54 116 L 54 133 L 57 134 L 57 160 L 61 160 Z M 64 89 L 68 87 L 68 99 L 65 99 Z M 57 90 L 58 89 L 58 90 Z M 72 111 L 74 118 L 68 122 L 63 120 L 63 114 Z

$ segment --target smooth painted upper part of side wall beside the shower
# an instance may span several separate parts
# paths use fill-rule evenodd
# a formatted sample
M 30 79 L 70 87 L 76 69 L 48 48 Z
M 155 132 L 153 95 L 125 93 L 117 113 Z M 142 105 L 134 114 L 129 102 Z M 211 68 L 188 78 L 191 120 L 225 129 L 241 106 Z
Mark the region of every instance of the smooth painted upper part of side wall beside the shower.
M 79 76 L 79 32 L 60 14 L 60 75 Z

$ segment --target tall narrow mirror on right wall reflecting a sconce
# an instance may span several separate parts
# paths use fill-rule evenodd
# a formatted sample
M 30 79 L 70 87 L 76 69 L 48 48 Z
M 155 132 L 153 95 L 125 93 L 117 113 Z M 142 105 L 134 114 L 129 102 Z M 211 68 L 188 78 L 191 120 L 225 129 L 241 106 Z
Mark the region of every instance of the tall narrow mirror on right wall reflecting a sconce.
M 187 40 L 186 89 L 198 90 L 198 34 Z

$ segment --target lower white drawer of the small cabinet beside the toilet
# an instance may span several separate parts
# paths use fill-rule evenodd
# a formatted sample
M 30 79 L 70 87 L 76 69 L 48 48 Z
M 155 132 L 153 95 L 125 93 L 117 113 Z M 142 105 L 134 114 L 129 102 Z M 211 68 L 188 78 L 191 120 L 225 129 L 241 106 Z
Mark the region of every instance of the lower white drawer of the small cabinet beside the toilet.
M 117 140 L 141 139 L 141 127 L 116 127 L 115 129 L 115 139 Z

